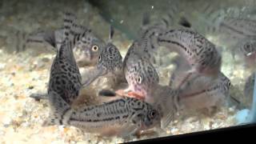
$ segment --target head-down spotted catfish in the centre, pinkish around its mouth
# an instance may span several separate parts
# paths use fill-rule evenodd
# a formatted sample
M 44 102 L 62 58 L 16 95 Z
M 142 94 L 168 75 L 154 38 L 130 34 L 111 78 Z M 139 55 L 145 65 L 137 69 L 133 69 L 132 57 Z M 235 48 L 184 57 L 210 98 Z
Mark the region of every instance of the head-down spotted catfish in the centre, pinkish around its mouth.
M 122 95 L 130 91 L 128 94 L 130 96 L 142 99 L 148 98 L 146 93 L 148 93 L 147 91 L 150 90 L 150 88 L 140 85 L 141 81 L 144 81 L 145 77 L 152 76 L 151 80 L 148 79 L 149 84 L 151 82 L 158 83 L 158 74 L 153 67 L 157 64 L 157 37 L 158 34 L 168 27 L 168 22 L 166 21 L 167 20 L 163 18 L 161 22 L 150 25 L 149 14 L 145 13 L 143 15 L 141 30 L 138 33 L 139 36 L 129 47 L 122 65 L 123 73 L 126 76 L 129 87 L 126 90 L 116 91 L 118 94 Z M 145 66 L 142 66 L 144 64 Z M 138 74 L 138 71 L 140 71 L 140 74 Z

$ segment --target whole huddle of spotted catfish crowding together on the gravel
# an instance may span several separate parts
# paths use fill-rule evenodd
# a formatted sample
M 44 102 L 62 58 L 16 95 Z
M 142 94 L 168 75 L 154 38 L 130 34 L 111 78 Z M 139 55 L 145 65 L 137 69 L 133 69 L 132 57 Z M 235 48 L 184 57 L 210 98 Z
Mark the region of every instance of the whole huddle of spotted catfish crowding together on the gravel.
M 30 95 L 49 102 L 49 118 L 43 126 L 76 126 L 88 133 L 126 138 L 146 130 L 163 130 L 183 110 L 210 112 L 230 99 L 239 104 L 229 94 L 231 82 L 221 71 L 222 54 L 217 46 L 194 30 L 185 17 L 180 18 L 178 28 L 170 26 L 170 21 L 170 14 L 158 22 L 151 22 L 150 14 L 144 14 L 138 38 L 128 48 L 125 58 L 113 44 L 113 26 L 110 26 L 109 40 L 104 42 L 92 30 L 79 25 L 73 12 L 63 13 L 63 26 L 59 30 L 30 34 L 26 42 L 45 42 L 56 52 L 48 89 L 43 94 Z M 230 18 L 219 27 L 233 30 L 238 28 L 230 24 L 240 23 L 246 29 L 242 22 L 252 21 Z M 248 67 L 254 67 L 255 33 L 242 31 L 250 41 L 239 50 Z M 170 62 L 175 70 L 171 72 L 168 86 L 159 84 L 156 68 L 160 49 L 178 54 Z M 82 51 L 82 58 L 75 58 L 74 50 Z M 86 66 L 85 63 L 94 69 L 83 75 L 86 82 L 82 82 L 79 67 Z M 100 97 L 112 99 L 93 106 L 74 107 L 81 90 L 100 77 L 114 79 L 113 89 L 99 92 Z M 120 89 L 121 84 L 126 88 Z

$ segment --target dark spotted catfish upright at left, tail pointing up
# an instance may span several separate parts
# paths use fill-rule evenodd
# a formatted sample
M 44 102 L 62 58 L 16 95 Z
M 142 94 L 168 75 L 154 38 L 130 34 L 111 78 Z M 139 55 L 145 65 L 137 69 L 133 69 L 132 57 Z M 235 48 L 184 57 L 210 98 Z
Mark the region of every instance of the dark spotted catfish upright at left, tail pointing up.
M 66 111 L 63 108 L 72 105 L 74 99 L 78 98 L 82 86 L 81 74 L 73 54 L 74 40 L 78 39 L 77 35 L 72 33 L 72 27 L 75 25 L 74 21 L 74 15 L 66 12 L 64 17 L 64 41 L 57 48 L 57 54 L 50 68 L 50 80 L 47 90 L 50 117 L 48 119 L 49 122 L 46 121 L 47 125 L 62 118 L 62 113 Z

